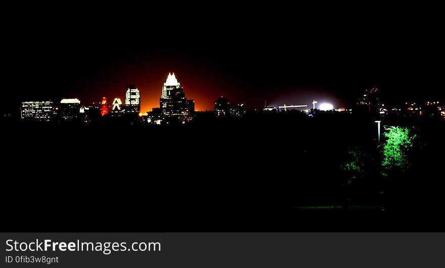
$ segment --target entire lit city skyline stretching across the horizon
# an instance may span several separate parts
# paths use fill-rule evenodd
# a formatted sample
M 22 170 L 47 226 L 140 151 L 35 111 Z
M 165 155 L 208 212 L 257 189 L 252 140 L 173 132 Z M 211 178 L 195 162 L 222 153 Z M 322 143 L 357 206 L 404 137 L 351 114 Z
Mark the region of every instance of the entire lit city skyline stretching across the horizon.
M 85 116 L 87 113 L 90 113 L 90 109 L 93 108 L 93 110 L 96 109 L 100 109 L 100 113 L 101 116 L 105 116 L 108 113 L 108 108 L 110 108 L 110 110 L 112 111 L 111 114 L 114 114 L 114 116 L 119 116 L 119 112 L 122 111 L 124 113 L 135 113 L 138 114 L 139 116 L 149 116 L 149 121 L 150 122 L 161 122 L 163 120 L 167 120 L 170 121 L 173 118 L 177 118 L 180 122 L 185 123 L 183 121 L 191 121 L 193 119 L 194 116 L 194 112 L 195 111 L 199 111 L 195 109 L 195 102 L 193 99 L 187 99 L 185 97 L 185 93 L 183 92 L 184 87 L 181 86 L 181 83 L 179 83 L 179 81 L 176 79 L 175 73 L 174 72 L 168 72 L 167 78 L 165 83 L 163 83 L 163 87 L 162 87 L 162 91 L 161 91 L 161 97 L 159 98 L 159 107 L 155 106 L 152 107 L 151 110 L 150 109 L 144 109 L 141 108 L 143 106 L 141 106 L 141 94 L 140 94 L 140 90 L 138 89 L 138 87 L 136 85 L 125 85 L 125 104 L 122 106 L 122 110 L 121 108 L 121 104 L 122 101 L 120 100 L 120 98 L 116 97 L 114 98 L 114 101 L 112 103 L 107 103 L 107 97 L 104 96 L 102 97 L 102 100 L 99 102 L 90 102 L 85 104 L 80 105 L 80 100 L 75 98 L 75 99 L 62 99 L 61 100 L 61 104 L 64 103 L 73 103 L 76 106 L 72 106 L 69 108 L 69 112 L 66 113 L 66 111 L 64 111 L 64 105 L 57 107 L 58 105 L 54 105 L 54 102 L 50 99 L 50 100 L 46 100 L 46 101 L 30 101 L 27 100 L 25 102 L 22 102 L 22 110 L 21 110 L 21 118 L 32 118 L 34 117 L 35 119 L 52 119 L 54 118 L 54 114 L 57 113 L 57 109 L 60 109 L 60 112 L 62 114 L 65 114 L 64 116 L 62 116 L 63 119 L 67 119 L 69 118 L 70 120 L 73 119 L 73 112 L 74 113 L 84 113 Z M 275 103 L 268 103 L 267 100 L 265 100 L 264 102 L 264 110 L 273 110 L 276 109 L 278 111 L 281 110 L 285 110 L 286 108 L 288 109 L 299 109 L 301 111 L 304 111 L 306 113 L 309 112 L 310 108 L 308 106 L 308 104 L 303 104 L 303 105 L 295 105 L 292 102 L 289 103 L 289 99 L 287 99 L 288 101 L 284 101 L 283 105 L 279 105 L 279 103 L 275 102 Z M 339 107 L 338 104 L 331 104 L 329 102 L 324 101 L 325 99 L 322 99 L 322 101 L 316 101 L 315 99 L 312 100 L 311 104 L 313 104 L 313 108 L 317 108 L 320 110 L 335 110 L 335 111 L 349 111 L 351 112 L 352 109 L 351 107 L 354 107 L 354 112 L 359 112 L 362 113 L 363 111 L 366 112 L 372 112 L 372 113 L 380 113 L 382 114 L 387 114 L 390 110 L 392 109 L 392 111 L 394 110 L 400 110 L 399 105 L 395 104 L 395 103 L 387 103 L 384 102 L 385 100 L 385 94 L 381 92 L 380 89 L 376 88 L 372 88 L 372 89 L 366 89 L 362 92 L 362 94 L 360 94 L 360 97 L 358 99 L 356 99 L 356 101 L 354 103 L 348 103 L 346 106 L 346 108 L 343 107 Z M 85 102 L 83 102 L 85 103 Z M 286 105 L 286 103 L 288 103 Z M 301 102 L 300 104 L 302 104 L 304 102 Z M 306 102 L 307 103 L 307 102 Z M 317 104 L 318 103 L 318 104 Z M 215 106 L 213 111 L 216 114 L 216 117 L 233 117 L 233 114 L 237 114 L 237 116 L 235 117 L 240 117 L 242 116 L 245 111 L 247 110 L 246 106 L 244 105 L 244 103 L 232 103 L 229 104 L 229 101 L 224 98 L 224 96 L 221 96 L 219 99 L 215 100 L 214 102 Z M 269 105 L 268 105 L 269 104 Z M 277 105 L 278 104 L 278 105 Z M 290 105 L 289 105 L 290 104 Z M 317 104 L 317 105 L 316 105 Z M 386 107 L 385 107 L 386 104 Z M 388 105 L 389 104 L 389 105 Z M 423 103 L 422 101 L 417 101 L 416 102 L 406 102 L 406 105 L 408 104 L 408 110 L 411 110 L 412 112 L 415 113 L 419 113 L 420 112 L 420 116 L 422 115 L 422 111 L 421 108 L 427 108 L 427 106 L 429 104 L 436 104 L 436 101 L 433 101 L 433 99 L 431 99 L 431 103 L 425 102 Z M 41 106 L 43 105 L 43 106 Z M 46 105 L 47 108 L 44 108 Z M 72 104 L 70 104 L 72 105 Z M 241 105 L 241 106 L 240 106 Z M 440 109 L 440 105 L 439 105 L 439 101 L 437 100 L 437 108 Z M 43 107 L 43 108 L 40 108 Z M 77 107 L 78 106 L 78 107 Z M 433 105 L 434 106 L 434 105 Z M 80 107 L 80 111 L 79 111 L 79 107 Z M 403 108 L 403 109 L 406 109 Z M 77 109 L 77 111 L 72 110 L 74 108 L 74 110 Z M 355 110 L 357 108 L 357 110 Z M 25 110 L 24 110 L 25 109 Z M 443 108 L 442 108 L 443 109 Z M 261 110 L 261 109 L 260 109 Z M 207 110 L 207 111 L 211 111 L 211 110 Z M 85 113 L 86 112 L 86 113 Z M 116 113 L 117 112 L 117 113 Z M 35 113 L 35 114 L 33 114 Z M 54 114 L 53 114 L 54 113 Z M 443 114 L 443 111 L 441 111 L 441 114 Z M 80 115 L 80 114 L 79 114 Z M 77 116 L 74 116 L 75 118 L 77 118 Z M 91 117 L 91 115 L 89 116 Z M 89 118 L 88 117 L 88 118 Z M 90 119 L 91 120 L 91 119 Z

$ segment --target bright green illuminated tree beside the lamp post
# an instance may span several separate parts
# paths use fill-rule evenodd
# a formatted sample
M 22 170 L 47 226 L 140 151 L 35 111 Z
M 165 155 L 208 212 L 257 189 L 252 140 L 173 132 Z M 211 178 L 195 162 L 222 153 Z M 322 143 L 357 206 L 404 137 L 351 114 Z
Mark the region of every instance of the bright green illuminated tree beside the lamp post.
M 390 127 L 384 136 L 386 143 L 383 147 L 382 166 L 387 170 L 407 171 L 410 167 L 408 152 L 413 147 L 416 135 L 411 134 L 408 128 Z

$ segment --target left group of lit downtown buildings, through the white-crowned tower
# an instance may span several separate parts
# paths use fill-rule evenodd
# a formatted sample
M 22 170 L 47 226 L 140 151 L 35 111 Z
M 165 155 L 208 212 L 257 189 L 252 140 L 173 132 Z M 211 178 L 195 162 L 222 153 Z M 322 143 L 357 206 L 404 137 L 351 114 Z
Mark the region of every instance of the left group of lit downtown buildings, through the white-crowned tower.
M 24 121 L 56 121 L 88 123 L 99 118 L 120 118 L 129 120 L 140 118 L 147 124 L 161 124 L 169 121 L 189 122 L 193 119 L 195 102 L 185 97 L 183 87 L 174 73 L 169 73 L 162 87 L 159 108 L 150 112 L 141 111 L 141 93 L 136 85 L 125 86 L 125 102 L 114 98 L 111 105 L 107 98 L 92 105 L 80 105 L 77 98 L 62 99 L 56 105 L 52 101 L 26 101 L 22 103 L 21 118 Z

